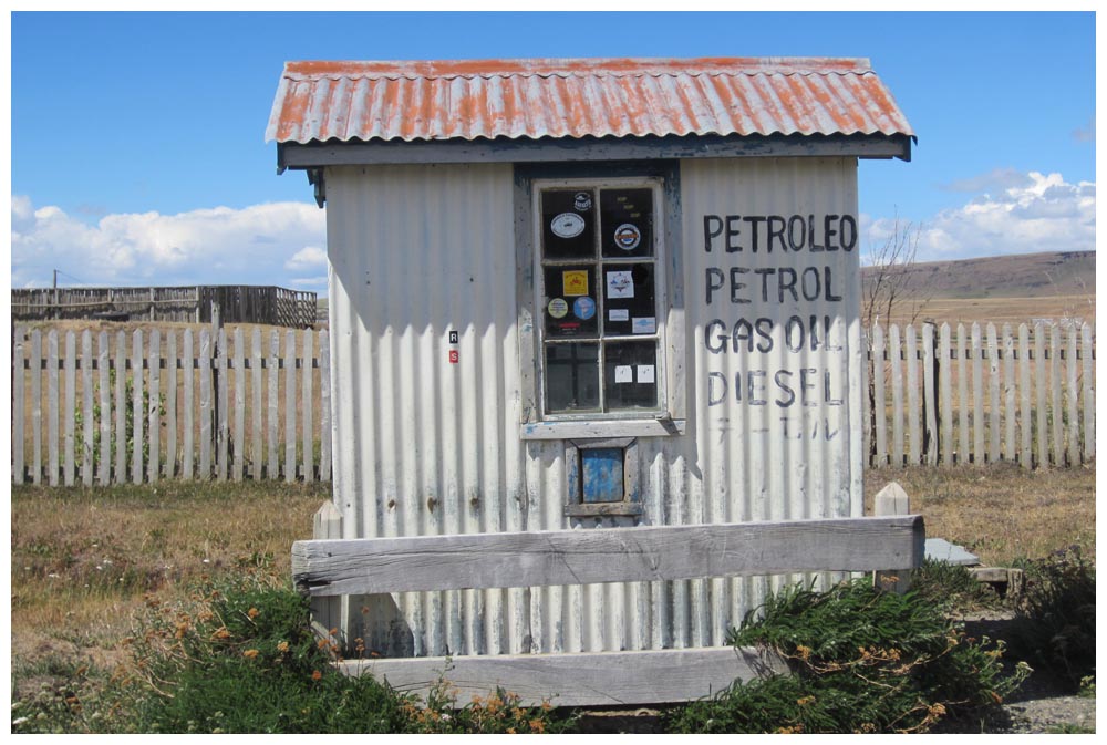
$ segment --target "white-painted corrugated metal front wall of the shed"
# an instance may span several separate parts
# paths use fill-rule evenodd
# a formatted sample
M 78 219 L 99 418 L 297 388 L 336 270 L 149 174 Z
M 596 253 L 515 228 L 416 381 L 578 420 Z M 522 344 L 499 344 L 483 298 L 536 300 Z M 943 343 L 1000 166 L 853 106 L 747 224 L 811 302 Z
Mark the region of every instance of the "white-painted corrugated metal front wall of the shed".
M 681 183 L 689 428 L 684 436 L 639 441 L 643 522 L 859 515 L 858 250 L 810 250 L 811 242 L 827 245 L 807 240 L 806 229 L 800 251 L 785 251 L 779 232 L 772 252 L 743 244 L 757 224 L 764 246 L 770 225 L 743 221 L 749 216 L 814 216 L 805 225 L 818 223 L 816 232 L 826 215 L 856 220 L 856 162 L 690 161 L 681 165 Z M 625 522 L 570 525 L 562 513 L 563 444 L 519 435 L 511 167 L 332 168 L 327 184 L 334 494 L 346 537 Z M 726 216 L 741 216 L 730 225 L 743 232 L 731 242 L 744 250 L 727 252 L 721 235 L 706 251 L 705 225 L 715 223 L 705 216 L 724 225 Z M 794 228 L 795 239 L 799 224 Z M 782 290 L 780 267 L 797 271 L 799 300 L 787 282 Z M 731 300 L 732 269 L 747 284 L 734 289 L 739 302 Z M 720 276 L 726 284 L 707 302 L 707 286 Z M 803 282 L 814 297 L 816 279 L 820 299 L 803 300 Z M 811 315 L 819 338 L 814 351 Z M 799 321 L 789 335 L 792 317 Z M 753 327 L 765 332 L 753 333 L 753 351 L 744 340 L 737 352 L 730 346 L 742 319 L 767 319 Z M 456 346 L 451 330 L 459 332 Z M 712 351 L 720 333 L 728 351 Z M 754 578 L 355 598 L 349 634 L 383 654 L 721 644 L 726 628 L 779 583 Z

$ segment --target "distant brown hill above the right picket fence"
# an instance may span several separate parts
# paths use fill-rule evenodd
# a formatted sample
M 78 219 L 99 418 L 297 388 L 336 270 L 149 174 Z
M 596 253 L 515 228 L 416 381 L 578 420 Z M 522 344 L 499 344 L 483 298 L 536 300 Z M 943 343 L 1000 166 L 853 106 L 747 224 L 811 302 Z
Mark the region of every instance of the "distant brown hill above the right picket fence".
M 868 287 L 876 273 L 861 269 Z M 907 272 L 907 294 L 941 298 L 1044 298 L 1096 293 L 1096 252 L 1057 251 L 959 261 L 923 261 Z

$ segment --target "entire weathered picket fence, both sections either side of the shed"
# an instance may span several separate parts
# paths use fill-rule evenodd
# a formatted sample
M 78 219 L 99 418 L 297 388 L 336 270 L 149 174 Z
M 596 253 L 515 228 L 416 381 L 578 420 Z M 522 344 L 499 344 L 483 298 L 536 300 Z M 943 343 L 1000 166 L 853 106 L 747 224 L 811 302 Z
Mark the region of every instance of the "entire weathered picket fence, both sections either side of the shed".
M 105 331 L 94 352 L 89 331 L 15 328 L 12 482 L 330 480 L 327 331 L 267 335 Z M 1095 457 L 1092 327 L 876 325 L 868 340 L 870 467 Z

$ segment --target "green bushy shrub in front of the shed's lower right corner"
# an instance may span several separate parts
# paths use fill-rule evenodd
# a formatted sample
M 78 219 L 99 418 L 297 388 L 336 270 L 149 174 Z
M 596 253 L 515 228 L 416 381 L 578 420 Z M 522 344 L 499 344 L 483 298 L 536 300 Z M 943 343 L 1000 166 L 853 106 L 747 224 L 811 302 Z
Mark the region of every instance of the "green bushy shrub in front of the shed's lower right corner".
M 924 732 L 940 718 L 989 707 L 1028 674 L 1005 675 L 1002 645 L 964 637 L 924 597 L 871 581 L 826 592 L 801 587 L 746 615 L 728 642 L 784 656 L 789 675 L 737 681 L 666 716 L 680 733 Z

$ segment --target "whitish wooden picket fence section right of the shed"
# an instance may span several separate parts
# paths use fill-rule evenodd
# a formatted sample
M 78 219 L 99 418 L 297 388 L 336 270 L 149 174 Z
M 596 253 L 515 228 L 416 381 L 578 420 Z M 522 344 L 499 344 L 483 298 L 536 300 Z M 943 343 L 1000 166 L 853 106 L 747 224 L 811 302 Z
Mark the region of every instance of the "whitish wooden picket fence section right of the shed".
M 921 339 L 920 339 L 921 338 Z M 1095 331 L 1088 324 L 908 325 L 869 334 L 872 467 L 1095 458 Z M 921 349 L 920 349 L 921 342 Z M 904 405 L 906 399 L 906 405 Z M 889 441 L 889 434 L 891 438 Z

